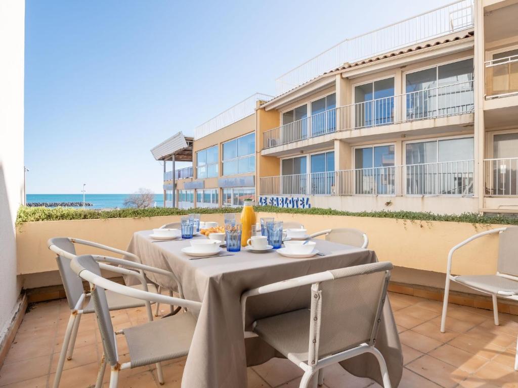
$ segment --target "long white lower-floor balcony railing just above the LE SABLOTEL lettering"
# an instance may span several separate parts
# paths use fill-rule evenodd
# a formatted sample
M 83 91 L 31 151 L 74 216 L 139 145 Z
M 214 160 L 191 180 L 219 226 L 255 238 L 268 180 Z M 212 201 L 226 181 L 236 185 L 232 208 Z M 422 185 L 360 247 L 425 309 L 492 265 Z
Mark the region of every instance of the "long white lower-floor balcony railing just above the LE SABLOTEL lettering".
M 261 178 L 261 195 L 472 195 L 473 160 Z

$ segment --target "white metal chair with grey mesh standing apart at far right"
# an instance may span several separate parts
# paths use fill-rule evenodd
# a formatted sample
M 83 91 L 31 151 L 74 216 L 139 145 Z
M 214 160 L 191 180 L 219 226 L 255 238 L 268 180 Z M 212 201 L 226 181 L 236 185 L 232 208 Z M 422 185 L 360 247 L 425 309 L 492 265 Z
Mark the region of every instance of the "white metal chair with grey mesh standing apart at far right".
M 477 238 L 499 233 L 498 263 L 496 275 L 471 275 L 454 276 L 451 274 L 453 253 Z M 450 294 L 450 281 L 455 281 L 466 287 L 472 288 L 493 297 L 493 315 L 495 325 L 499 325 L 497 297 L 503 297 L 518 301 L 518 227 L 506 227 L 488 230 L 475 234 L 462 243 L 455 245 L 448 255 L 446 268 L 446 283 L 444 286 L 444 301 L 442 305 L 441 332 L 444 333 L 446 315 L 448 312 L 448 296 Z M 518 339 L 516 340 L 516 357 L 514 369 L 518 370 Z

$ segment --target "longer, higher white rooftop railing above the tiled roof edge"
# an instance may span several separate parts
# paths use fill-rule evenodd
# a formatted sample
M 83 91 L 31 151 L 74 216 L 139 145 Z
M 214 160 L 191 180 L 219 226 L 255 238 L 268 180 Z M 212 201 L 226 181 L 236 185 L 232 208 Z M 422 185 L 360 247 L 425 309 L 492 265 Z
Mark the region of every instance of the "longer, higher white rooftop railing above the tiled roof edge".
M 344 63 L 361 61 L 472 27 L 473 1 L 462 0 L 451 3 L 369 33 L 342 40 L 280 76 L 276 80 L 277 95 L 290 91 Z

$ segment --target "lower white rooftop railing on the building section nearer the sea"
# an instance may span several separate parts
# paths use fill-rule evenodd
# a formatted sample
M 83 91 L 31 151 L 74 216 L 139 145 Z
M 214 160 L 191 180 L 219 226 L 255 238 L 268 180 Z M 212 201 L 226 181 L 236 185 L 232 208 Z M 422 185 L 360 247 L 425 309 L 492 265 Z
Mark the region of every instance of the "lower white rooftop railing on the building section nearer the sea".
M 218 129 L 241 120 L 241 118 L 251 115 L 255 111 L 257 101 L 269 101 L 272 98 L 274 97 L 264 93 L 255 93 L 250 97 L 245 98 L 233 107 L 228 108 L 226 111 L 221 112 L 215 117 L 212 117 L 202 125 L 198 125 L 194 129 L 194 140 L 203 138 L 204 136 L 209 135 L 209 133 L 215 132 Z

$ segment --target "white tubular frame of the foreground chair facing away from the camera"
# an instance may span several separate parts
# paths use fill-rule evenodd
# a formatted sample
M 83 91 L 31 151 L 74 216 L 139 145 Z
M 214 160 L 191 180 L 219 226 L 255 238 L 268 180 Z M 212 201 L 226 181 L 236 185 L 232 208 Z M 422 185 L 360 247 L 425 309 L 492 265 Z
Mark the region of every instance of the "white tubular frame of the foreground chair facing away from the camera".
M 376 320 L 375 320 L 376 323 L 372 330 L 372 336 L 374 336 L 378 331 L 379 319 L 380 319 L 380 316 L 383 311 L 383 304 L 386 299 L 386 291 L 387 291 L 387 287 L 389 285 L 390 275 L 391 275 L 391 271 L 390 270 L 386 271 L 385 283 L 384 283 L 383 291 L 382 291 L 383 297 L 381 298 L 380 304 L 378 306 L 378 312 L 377 312 L 377 316 L 376 316 Z M 329 271 L 325 271 L 325 272 L 320 272 L 320 273 L 316 273 L 316 274 L 300 276 L 300 277 L 296 277 L 296 278 L 292 278 L 292 279 L 288 279 L 288 280 L 278 281 L 275 283 L 270 283 L 269 285 L 254 288 L 254 289 L 244 292 L 241 295 L 241 314 L 242 314 L 244 337 L 245 338 L 257 337 L 257 334 L 255 334 L 254 332 L 246 331 L 246 321 L 245 321 L 246 320 L 246 304 L 247 304 L 247 300 L 249 297 L 256 296 L 256 295 L 263 295 L 263 294 L 267 294 L 267 293 L 271 293 L 271 292 L 287 290 L 287 289 L 291 289 L 291 288 L 297 288 L 297 287 L 301 287 L 301 286 L 308 286 L 308 285 L 312 285 L 312 287 L 318 288 L 319 282 L 326 281 L 326 280 L 333 280 L 333 279 L 334 279 L 333 274 L 330 273 Z M 256 324 L 256 322 L 253 323 L 252 327 L 255 327 L 255 324 Z M 301 362 L 298 365 L 298 367 L 300 369 L 304 370 L 304 375 L 300 381 L 299 388 L 307 388 L 309 386 L 311 378 L 314 376 L 315 373 L 318 373 L 318 381 L 317 381 L 318 385 L 323 385 L 324 384 L 324 375 L 323 375 L 323 370 L 322 370 L 323 368 L 325 368 L 329 365 L 336 364 L 338 362 L 350 359 L 352 357 L 355 357 L 355 356 L 363 354 L 363 353 L 371 353 L 376 357 L 376 360 L 378 361 L 378 364 L 380 365 L 380 369 L 381 369 L 383 386 L 384 386 L 384 388 L 391 388 L 391 383 L 390 383 L 390 379 L 389 379 L 389 371 L 387 370 L 385 360 L 384 360 L 381 352 L 375 348 L 375 343 L 374 343 L 375 341 L 372 340 L 372 336 L 371 336 L 371 341 L 369 344 L 367 344 L 367 343 L 360 344 L 352 349 L 344 350 L 340 353 L 336 353 L 336 354 L 332 354 L 332 355 L 323 357 L 322 359 L 317 360 L 314 365 L 309 365 L 308 363 Z

